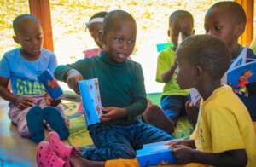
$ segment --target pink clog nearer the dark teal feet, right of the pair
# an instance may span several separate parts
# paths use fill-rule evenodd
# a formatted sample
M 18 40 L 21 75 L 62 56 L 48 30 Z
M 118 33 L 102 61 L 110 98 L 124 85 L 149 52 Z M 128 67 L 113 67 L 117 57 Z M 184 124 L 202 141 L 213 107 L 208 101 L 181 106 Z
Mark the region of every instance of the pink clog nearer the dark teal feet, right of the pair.
M 71 153 L 76 150 L 74 147 L 68 146 L 62 142 L 55 131 L 49 132 L 48 139 L 50 147 L 52 147 L 56 155 L 65 161 L 69 160 Z

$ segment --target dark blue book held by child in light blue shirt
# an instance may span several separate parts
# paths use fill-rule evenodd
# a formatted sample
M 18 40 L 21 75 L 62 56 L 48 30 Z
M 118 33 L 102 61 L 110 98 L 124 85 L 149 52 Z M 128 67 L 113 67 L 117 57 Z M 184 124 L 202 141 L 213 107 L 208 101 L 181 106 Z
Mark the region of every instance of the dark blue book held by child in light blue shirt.
M 41 75 L 38 76 L 38 81 L 44 85 L 47 93 L 53 100 L 60 99 L 63 95 L 61 87 L 51 88 L 48 85 L 48 82 L 55 79 L 49 70 L 45 70 Z

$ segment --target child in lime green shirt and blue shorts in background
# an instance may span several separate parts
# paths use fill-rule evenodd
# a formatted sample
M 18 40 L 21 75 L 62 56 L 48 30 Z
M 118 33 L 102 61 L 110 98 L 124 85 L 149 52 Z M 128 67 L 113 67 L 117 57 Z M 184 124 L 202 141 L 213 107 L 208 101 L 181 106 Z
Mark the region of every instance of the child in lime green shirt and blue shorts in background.
M 159 107 L 150 107 L 143 114 L 143 118 L 156 127 L 172 133 L 178 117 L 185 113 L 185 103 L 189 90 L 180 89 L 176 82 L 177 61 L 175 57 L 175 49 L 178 45 L 178 37 L 182 39 L 194 34 L 193 16 L 188 11 L 177 10 L 173 12 L 169 18 L 168 36 L 170 37 L 173 48 L 168 48 L 160 52 L 157 60 L 156 81 L 165 83 L 164 91 L 160 100 L 161 107 L 166 117 L 160 117 L 162 112 Z M 180 40 L 182 40 L 180 39 Z M 179 41 L 180 43 L 181 41 Z M 159 117 L 155 117 L 159 115 Z

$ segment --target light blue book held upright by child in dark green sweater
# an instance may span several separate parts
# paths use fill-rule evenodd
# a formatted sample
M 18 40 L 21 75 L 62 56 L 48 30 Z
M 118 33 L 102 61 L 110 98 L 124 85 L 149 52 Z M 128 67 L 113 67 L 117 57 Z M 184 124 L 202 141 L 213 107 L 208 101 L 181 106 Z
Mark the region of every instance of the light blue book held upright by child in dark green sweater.
M 79 81 L 86 125 L 100 123 L 102 102 L 97 78 Z

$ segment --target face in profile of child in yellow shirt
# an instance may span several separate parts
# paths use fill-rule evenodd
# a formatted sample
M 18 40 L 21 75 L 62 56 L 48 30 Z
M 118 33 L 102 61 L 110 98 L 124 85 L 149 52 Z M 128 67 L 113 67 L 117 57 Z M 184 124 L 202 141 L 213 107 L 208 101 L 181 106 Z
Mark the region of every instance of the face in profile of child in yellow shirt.
M 194 71 L 195 68 L 189 64 L 189 60 L 177 55 L 177 83 L 181 89 L 194 88 Z

